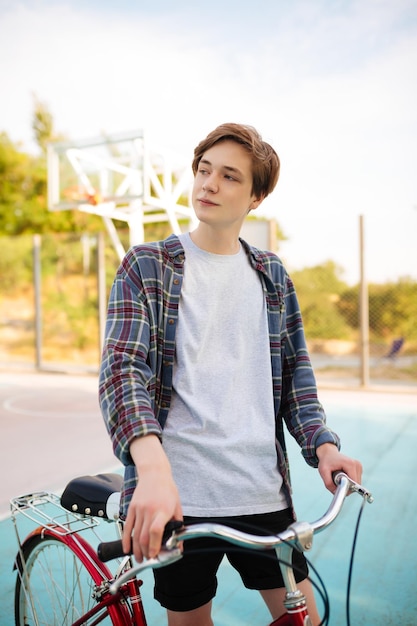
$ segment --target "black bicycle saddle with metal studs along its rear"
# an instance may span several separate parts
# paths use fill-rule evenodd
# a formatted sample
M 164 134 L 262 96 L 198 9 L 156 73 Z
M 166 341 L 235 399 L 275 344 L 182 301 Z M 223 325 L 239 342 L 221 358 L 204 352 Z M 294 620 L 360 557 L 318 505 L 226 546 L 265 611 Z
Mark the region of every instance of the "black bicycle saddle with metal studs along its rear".
M 120 491 L 123 477 L 119 474 L 97 474 L 73 478 L 61 495 L 67 511 L 103 519 L 119 518 Z

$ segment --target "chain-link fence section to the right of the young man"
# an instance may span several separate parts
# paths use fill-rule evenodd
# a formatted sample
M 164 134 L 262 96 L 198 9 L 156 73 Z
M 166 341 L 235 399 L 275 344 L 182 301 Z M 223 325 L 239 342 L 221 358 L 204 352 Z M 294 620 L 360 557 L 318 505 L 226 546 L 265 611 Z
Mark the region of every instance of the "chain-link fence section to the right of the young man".
M 330 262 L 292 278 L 320 382 L 417 385 L 417 282 L 349 286 Z

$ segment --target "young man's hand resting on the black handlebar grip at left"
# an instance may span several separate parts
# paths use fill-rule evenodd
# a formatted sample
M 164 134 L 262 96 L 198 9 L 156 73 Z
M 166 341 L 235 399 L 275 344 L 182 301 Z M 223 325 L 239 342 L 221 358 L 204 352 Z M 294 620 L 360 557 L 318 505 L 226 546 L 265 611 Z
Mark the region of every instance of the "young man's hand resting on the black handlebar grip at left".
M 159 439 L 147 435 L 135 439 L 130 453 L 138 472 L 138 484 L 123 529 L 123 550 L 133 548 L 135 559 L 155 557 L 165 525 L 182 520 L 181 503 L 171 467 Z

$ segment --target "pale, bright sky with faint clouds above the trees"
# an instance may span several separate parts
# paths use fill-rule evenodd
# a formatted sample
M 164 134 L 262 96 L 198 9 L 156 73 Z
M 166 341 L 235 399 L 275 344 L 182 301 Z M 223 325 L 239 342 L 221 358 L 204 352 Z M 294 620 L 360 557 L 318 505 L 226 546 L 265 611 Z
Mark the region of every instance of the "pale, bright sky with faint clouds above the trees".
M 143 129 L 191 163 L 215 126 L 281 160 L 258 209 L 290 271 L 417 279 L 416 0 L 0 0 L 0 132 L 36 150 L 34 95 L 71 140 Z

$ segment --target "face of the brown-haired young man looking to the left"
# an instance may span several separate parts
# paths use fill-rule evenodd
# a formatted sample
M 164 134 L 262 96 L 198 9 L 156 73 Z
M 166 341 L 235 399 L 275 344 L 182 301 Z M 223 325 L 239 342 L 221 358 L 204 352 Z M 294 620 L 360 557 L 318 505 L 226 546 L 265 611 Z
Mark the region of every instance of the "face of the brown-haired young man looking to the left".
M 200 222 L 239 229 L 248 211 L 259 204 L 252 194 L 251 158 L 235 141 L 207 150 L 194 178 L 193 207 Z

